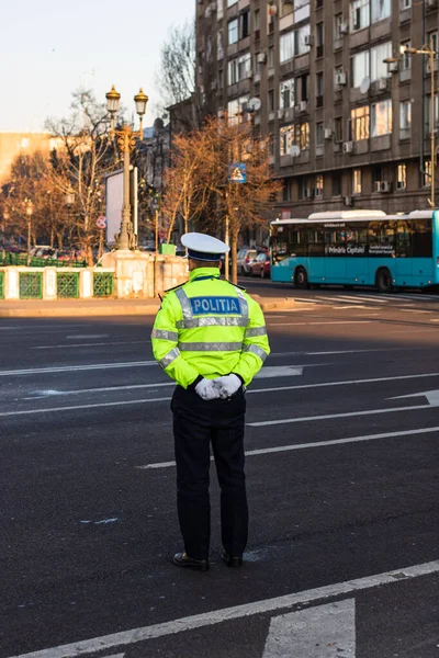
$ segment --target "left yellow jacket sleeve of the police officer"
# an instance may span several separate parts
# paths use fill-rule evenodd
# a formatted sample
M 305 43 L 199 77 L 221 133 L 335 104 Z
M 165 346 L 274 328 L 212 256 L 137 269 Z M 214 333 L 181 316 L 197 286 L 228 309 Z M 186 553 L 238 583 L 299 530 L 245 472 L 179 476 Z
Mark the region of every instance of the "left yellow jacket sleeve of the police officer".
M 195 382 L 199 373 L 184 361 L 178 349 L 177 321 L 181 319 L 178 317 L 181 316 L 181 310 L 176 302 L 175 294 L 170 293 L 161 303 L 151 333 L 153 353 L 166 374 L 183 388 L 188 388 Z

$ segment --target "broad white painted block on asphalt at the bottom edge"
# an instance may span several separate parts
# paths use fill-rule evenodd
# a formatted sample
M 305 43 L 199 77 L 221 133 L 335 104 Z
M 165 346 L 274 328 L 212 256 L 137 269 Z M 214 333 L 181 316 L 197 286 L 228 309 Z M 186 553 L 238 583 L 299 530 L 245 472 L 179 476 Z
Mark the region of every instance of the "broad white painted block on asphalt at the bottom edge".
M 273 617 L 262 658 L 356 658 L 356 600 Z

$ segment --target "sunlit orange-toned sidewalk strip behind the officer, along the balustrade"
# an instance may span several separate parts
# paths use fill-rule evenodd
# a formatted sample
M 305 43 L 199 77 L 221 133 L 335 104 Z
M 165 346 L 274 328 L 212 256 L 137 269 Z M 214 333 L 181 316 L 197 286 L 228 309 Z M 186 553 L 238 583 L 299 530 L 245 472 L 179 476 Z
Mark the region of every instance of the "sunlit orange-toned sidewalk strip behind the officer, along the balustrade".
M 295 308 L 289 297 L 260 297 L 252 295 L 263 311 Z M 301 304 L 301 309 L 304 305 Z M 95 316 L 145 316 L 156 315 L 159 299 L 2 299 L 0 318 L 60 318 Z

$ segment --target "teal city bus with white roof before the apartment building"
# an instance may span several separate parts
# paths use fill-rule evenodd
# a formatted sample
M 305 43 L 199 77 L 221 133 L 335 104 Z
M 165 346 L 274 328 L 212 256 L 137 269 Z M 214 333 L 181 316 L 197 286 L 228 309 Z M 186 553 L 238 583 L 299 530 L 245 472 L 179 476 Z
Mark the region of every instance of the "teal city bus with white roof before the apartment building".
M 270 225 L 271 279 L 309 285 L 439 284 L 439 211 L 314 213 Z

